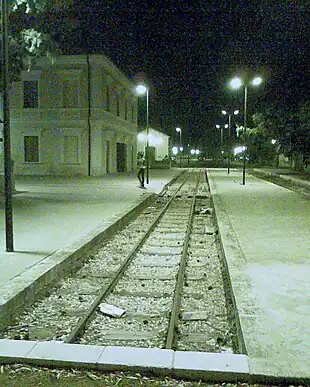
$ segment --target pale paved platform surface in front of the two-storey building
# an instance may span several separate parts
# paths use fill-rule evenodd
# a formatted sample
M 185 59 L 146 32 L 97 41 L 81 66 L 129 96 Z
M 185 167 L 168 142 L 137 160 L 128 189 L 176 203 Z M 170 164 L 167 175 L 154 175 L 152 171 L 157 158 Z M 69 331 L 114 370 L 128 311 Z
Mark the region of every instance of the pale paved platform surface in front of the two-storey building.
M 135 175 L 100 178 L 22 177 L 13 196 L 14 252 L 5 251 L 4 197 L 0 197 L 0 287 L 74 244 L 103 221 L 119 218 L 180 170 L 154 170 L 147 190 Z

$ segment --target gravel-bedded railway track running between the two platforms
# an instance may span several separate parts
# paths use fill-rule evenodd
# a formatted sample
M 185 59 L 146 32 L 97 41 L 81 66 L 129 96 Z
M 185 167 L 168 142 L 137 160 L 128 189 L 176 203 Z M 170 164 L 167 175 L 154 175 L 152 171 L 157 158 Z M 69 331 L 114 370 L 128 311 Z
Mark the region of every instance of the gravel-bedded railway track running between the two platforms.
M 188 171 L 1 337 L 233 352 L 227 306 L 205 176 Z

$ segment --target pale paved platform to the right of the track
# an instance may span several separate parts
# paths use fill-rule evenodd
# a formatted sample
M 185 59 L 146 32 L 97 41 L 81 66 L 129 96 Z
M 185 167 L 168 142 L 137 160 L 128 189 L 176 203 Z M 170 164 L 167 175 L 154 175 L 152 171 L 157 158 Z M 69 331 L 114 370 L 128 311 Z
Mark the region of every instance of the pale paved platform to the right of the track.
M 209 170 L 250 369 L 310 377 L 310 199 Z

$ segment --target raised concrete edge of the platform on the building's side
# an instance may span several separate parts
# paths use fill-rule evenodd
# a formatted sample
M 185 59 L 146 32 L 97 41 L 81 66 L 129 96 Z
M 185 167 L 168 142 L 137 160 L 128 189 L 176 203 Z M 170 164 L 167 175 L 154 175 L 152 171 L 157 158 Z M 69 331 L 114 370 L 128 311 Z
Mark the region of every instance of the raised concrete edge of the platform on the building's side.
M 0 324 L 5 324 L 15 313 L 35 302 L 38 295 L 64 275 L 83 264 L 83 256 L 135 219 L 157 197 L 146 194 L 125 215 L 116 214 L 103 221 L 97 228 L 81 234 L 78 241 L 55 251 L 29 270 L 13 278 L 1 288 Z

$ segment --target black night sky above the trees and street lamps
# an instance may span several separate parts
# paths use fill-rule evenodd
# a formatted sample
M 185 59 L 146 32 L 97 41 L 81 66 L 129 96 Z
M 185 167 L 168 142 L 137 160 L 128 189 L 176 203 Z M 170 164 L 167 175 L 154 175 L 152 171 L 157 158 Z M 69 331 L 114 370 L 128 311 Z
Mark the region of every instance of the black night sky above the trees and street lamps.
M 192 145 L 212 141 L 221 110 L 242 108 L 234 75 L 260 74 L 249 115 L 294 111 L 309 96 L 310 1 L 80 0 L 84 45 L 150 85 L 150 121 Z M 242 122 L 240 122 L 242 124 Z

